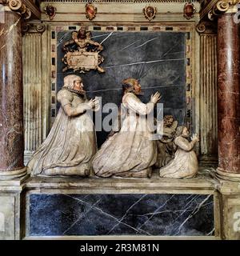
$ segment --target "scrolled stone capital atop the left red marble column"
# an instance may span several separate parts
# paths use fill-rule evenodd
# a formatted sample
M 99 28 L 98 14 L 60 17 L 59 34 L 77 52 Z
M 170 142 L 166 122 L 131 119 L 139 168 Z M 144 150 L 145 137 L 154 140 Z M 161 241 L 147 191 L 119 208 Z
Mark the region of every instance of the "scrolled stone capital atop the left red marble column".
M 0 4 L 9 7 L 13 12 L 18 13 L 24 19 L 28 19 L 31 16 L 30 9 L 22 2 L 22 0 L 0 0 Z

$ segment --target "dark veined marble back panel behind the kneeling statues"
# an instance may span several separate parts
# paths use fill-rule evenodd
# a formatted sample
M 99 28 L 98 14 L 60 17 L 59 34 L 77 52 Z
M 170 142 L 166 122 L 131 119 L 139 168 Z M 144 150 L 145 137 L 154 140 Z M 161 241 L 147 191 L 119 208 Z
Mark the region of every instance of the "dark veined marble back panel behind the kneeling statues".
M 58 31 L 57 87 L 63 86 L 62 45 L 71 38 L 72 31 Z M 161 92 L 164 114 L 173 114 L 183 124 L 186 114 L 186 33 L 181 32 L 101 32 L 93 31 L 92 39 L 102 42 L 102 67 L 105 74 L 92 70 L 80 74 L 88 98 L 102 97 L 102 104 L 114 102 L 118 106 L 122 99 L 122 80 L 138 78 L 148 102 L 150 95 Z M 59 107 L 59 104 L 58 104 Z M 105 118 L 106 114 L 102 114 Z M 98 133 L 98 146 L 106 140 L 106 132 Z

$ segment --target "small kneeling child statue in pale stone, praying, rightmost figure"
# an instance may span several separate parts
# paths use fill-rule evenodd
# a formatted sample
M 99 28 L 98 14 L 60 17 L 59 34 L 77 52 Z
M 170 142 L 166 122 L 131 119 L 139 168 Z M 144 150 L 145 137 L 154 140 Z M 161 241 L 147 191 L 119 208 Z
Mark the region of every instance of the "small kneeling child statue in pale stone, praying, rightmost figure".
M 185 126 L 179 126 L 174 139 L 177 151 L 174 159 L 160 168 L 160 177 L 193 178 L 198 173 L 198 158 L 194 152 L 194 145 L 199 138 L 197 134 L 193 135 L 191 142 L 187 138 L 189 138 L 189 131 Z

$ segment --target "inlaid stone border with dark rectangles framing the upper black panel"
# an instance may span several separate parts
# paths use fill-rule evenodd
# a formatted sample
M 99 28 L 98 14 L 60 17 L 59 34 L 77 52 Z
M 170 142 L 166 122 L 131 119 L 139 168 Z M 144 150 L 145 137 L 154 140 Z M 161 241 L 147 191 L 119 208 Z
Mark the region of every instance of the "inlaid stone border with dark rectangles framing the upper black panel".
M 186 125 L 190 127 L 190 132 L 198 132 L 198 126 L 195 122 L 195 29 L 194 22 L 164 22 L 148 23 L 142 26 L 123 25 L 123 26 L 86 26 L 89 31 L 102 32 L 141 32 L 141 31 L 161 31 L 161 32 L 183 32 L 186 33 Z M 50 127 L 53 125 L 57 115 L 57 33 L 58 31 L 79 30 L 81 26 L 50 26 L 51 41 L 51 84 L 50 84 Z

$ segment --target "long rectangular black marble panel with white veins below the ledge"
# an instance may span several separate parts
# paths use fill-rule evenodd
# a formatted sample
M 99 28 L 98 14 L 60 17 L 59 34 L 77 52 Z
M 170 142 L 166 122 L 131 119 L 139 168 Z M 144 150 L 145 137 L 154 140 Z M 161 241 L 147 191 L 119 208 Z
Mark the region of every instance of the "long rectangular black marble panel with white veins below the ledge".
M 30 194 L 31 236 L 214 235 L 214 196 Z

